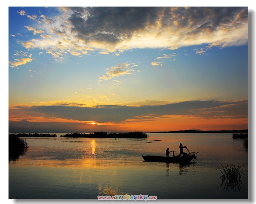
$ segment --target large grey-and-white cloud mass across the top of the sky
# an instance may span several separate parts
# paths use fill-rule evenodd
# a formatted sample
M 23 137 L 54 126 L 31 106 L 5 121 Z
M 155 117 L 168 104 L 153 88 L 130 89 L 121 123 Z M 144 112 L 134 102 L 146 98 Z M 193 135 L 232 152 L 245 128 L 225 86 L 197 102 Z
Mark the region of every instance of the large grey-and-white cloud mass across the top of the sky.
M 86 54 L 98 49 L 99 54 L 109 54 L 131 48 L 176 49 L 202 43 L 227 47 L 248 42 L 247 7 L 136 7 L 133 12 L 130 7 L 67 7 L 60 12 L 54 18 L 42 14 L 40 29 L 26 26 L 34 35 L 44 32 L 52 38 L 37 39 L 31 46 L 49 49 L 61 42 L 61 51 Z M 24 47 L 29 48 L 25 43 Z

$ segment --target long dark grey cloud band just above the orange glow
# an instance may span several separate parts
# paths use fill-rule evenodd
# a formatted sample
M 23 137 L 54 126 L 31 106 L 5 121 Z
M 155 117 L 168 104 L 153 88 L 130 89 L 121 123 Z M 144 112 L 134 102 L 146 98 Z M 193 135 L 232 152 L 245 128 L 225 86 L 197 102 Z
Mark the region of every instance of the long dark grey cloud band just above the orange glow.
M 33 112 L 44 117 L 55 117 L 80 121 L 124 122 L 129 119 L 148 119 L 166 115 L 184 115 L 203 119 L 248 118 L 248 100 L 218 101 L 196 100 L 166 105 L 123 106 L 101 105 L 96 107 L 32 106 L 17 107 L 21 111 Z

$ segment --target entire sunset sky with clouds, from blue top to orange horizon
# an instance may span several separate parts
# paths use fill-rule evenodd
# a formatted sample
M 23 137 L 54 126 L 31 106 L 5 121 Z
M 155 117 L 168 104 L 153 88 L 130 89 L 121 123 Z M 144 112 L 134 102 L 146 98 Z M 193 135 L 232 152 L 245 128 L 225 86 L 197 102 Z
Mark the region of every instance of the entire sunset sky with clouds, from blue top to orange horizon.
M 248 129 L 248 7 L 9 7 L 9 132 Z

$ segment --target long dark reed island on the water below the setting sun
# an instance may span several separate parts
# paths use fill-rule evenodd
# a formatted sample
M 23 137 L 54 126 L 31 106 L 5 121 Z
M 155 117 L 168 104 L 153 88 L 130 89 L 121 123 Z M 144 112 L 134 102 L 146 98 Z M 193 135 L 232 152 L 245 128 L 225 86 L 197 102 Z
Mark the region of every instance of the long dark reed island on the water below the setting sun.
M 60 137 L 90 137 L 90 138 L 147 138 L 148 135 L 143 132 L 122 132 L 122 133 L 108 133 L 108 132 L 93 132 L 89 134 L 85 133 L 67 133 L 60 135 Z

